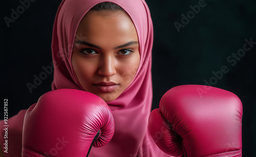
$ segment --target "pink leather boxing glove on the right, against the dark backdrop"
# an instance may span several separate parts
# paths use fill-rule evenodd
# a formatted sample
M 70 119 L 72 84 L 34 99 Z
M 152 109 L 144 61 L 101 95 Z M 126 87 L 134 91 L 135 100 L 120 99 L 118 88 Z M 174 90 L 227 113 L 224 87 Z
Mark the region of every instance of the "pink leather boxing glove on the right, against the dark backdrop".
M 148 120 L 153 140 L 173 156 L 242 156 L 240 99 L 216 87 L 200 97 L 204 87 L 181 85 L 164 94 Z

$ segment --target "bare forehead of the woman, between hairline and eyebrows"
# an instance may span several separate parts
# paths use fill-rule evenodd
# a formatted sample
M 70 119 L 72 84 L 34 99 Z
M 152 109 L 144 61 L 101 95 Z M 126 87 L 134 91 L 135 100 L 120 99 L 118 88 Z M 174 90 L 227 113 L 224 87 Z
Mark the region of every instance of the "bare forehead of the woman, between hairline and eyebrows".
M 124 11 L 89 11 L 80 21 L 76 34 L 90 42 L 138 41 L 133 21 Z

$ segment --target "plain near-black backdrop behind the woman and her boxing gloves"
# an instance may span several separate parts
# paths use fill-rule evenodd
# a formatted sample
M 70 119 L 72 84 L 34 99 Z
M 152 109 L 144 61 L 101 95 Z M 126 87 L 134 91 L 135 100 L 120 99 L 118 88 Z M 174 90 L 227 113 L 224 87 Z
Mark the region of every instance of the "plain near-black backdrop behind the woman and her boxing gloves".
M 1 95 L 8 99 L 9 117 L 50 91 L 53 79 L 49 72 L 32 91 L 26 85 L 51 65 L 52 27 L 60 1 L 33 0 L 22 9 L 24 1 L 5 1 L 0 8 Z M 146 2 L 155 31 L 153 108 L 177 85 L 208 82 L 226 89 L 243 103 L 243 156 L 255 155 L 256 44 L 244 44 L 256 42 L 256 1 Z M 15 19 L 8 26 L 5 19 L 12 14 Z

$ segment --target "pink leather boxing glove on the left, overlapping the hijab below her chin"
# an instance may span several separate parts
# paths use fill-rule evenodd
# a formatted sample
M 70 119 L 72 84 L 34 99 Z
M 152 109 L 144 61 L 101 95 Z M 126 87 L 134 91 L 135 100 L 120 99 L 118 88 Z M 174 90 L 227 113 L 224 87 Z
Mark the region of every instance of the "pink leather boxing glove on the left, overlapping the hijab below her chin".
M 114 118 L 98 96 L 77 89 L 42 95 L 24 118 L 22 156 L 88 156 L 112 139 Z

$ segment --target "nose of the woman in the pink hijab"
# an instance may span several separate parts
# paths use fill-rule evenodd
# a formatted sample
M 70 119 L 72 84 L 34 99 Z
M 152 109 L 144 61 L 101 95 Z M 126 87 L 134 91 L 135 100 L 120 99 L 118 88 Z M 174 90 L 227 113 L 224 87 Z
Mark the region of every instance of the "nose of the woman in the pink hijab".
M 100 59 L 100 67 L 98 74 L 110 77 L 116 74 L 115 58 L 111 55 L 102 56 Z

